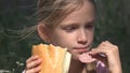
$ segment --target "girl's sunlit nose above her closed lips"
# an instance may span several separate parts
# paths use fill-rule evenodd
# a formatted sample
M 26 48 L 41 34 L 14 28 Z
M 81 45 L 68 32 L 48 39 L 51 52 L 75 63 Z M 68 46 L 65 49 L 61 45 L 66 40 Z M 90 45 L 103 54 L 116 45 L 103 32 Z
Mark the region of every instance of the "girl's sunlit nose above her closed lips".
M 78 38 L 77 38 L 77 42 L 79 44 L 87 44 L 88 42 L 88 36 L 87 36 L 87 32 L 84 30 L 80 30 L 78 33 Z

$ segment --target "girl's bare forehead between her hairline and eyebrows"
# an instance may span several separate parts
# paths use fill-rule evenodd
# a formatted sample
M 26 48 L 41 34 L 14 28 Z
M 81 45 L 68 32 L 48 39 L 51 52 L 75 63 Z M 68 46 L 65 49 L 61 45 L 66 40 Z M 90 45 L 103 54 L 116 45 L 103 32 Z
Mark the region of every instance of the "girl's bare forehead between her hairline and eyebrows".
M 82 6 L 77 9 L 76 11 L 72 12 L 69 15 L 67 15 L 61 24 L 67 24 L 67 23 L 87 23 L 87 21 L 93 21 L 95 18 L 95 12 L 94 6 L 89 1 L 84 1 Z

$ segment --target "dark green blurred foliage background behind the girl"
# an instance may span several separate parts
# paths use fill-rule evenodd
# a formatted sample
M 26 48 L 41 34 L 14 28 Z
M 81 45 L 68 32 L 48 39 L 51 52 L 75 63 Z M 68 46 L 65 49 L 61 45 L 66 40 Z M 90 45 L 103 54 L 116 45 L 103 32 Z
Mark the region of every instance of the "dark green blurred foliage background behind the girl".
M 130 0 L 95 0 L 94 46 L 108 40 L 118 45 L 123 73 L 130 73 Z M 0 0 L 0 73 L 21 73 L 37 35 L 37 0 Z

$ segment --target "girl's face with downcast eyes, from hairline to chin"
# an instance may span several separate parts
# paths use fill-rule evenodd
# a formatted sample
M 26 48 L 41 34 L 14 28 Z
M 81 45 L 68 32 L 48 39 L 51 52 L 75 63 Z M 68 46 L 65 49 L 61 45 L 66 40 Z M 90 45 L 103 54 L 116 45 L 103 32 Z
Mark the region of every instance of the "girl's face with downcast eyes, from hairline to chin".
M 88 52 L 93 41 L 94 6 L 86 1 L 77 11 L 70 13 L 57 25 L 51 35 L 51 43 L 67 47 L 74 59 Z

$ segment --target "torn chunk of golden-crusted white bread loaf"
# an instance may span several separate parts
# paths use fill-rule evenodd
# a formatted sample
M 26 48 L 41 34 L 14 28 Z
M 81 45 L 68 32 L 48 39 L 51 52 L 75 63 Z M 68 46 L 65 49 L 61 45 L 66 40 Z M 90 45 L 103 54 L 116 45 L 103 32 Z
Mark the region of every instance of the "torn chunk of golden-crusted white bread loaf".
M 31 53 L 42 59 L 39 73 L 68 73 L 72 55 L 67 48 L 52 44 L 39 44 L 32 46 Z

